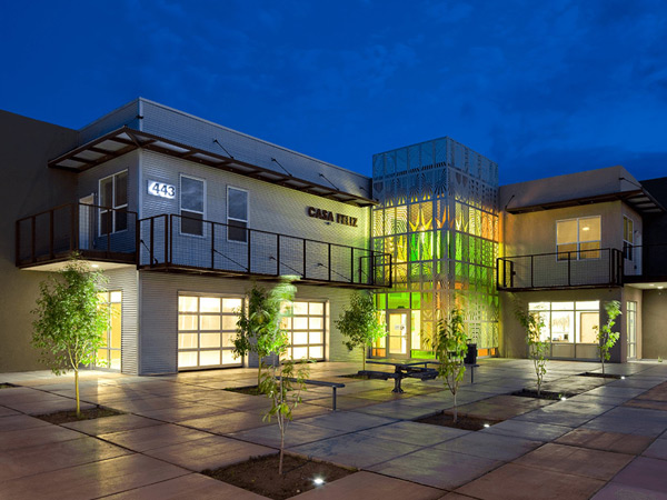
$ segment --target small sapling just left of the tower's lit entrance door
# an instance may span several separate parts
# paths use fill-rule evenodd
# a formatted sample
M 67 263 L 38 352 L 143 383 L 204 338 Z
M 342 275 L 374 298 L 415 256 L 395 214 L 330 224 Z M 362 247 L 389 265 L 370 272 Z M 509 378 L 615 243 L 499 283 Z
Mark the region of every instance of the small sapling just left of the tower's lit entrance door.
M 366 356 L 368 348 L 375 341 L 387 334 L 385 326 L 379 322 L 379 312 L 375 299 L 369 293 L 355 293 L 350 300 L 349 309 L 340 313 L 336 326 L 340 333 L 347 338 L 344 341 L 349 351 L 361 349 L 362 370 L 366 370 Z

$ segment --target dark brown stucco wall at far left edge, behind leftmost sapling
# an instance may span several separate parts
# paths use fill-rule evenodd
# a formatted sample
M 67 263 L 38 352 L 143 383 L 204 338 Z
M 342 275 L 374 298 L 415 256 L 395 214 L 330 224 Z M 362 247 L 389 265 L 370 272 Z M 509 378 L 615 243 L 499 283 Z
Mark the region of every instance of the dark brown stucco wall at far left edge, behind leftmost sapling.
M 16 267 L 14 227 L 19 218 L 76 199 L 76 176 L 47 162 L 72 148 L 77 132 L 0 111 L 0 372 L 43 369 L 30 346 L 30 311 L 47 274 Z

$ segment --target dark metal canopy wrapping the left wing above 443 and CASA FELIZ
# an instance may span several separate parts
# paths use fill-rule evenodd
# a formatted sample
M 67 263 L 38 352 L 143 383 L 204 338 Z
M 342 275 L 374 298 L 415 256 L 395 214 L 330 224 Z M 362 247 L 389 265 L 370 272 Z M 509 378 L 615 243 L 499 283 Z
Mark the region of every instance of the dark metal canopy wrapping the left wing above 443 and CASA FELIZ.
M 228 172 L 238 173 L 240 176 L 251 177 L 265 182 L 282 186 L 285 188 L 308 192 L 310 194 L 328 198 L 341 203 L 352 204 L 356 207 L 371 207 L 378 204 L 377 201 L 368 198 L 344 192 L 338 189 L 305 179 L 291 177 L 230 157 L 205 151 L 202 149 L 172 141 L 171 139 L 166 139 L 148 132 L 141 132 L 128 127 L 122 127 L 118 130 L 109 132 L 98 139 L 94 139 L 93 141 L 88 142 L 87 144 L 76 148 L 49 161 L 49 167 L 82 172 L 139 148 L 168 154 L 170 157 L 186 159 L 197 163 L 202 163 L 220 170 L 226 170 Z

